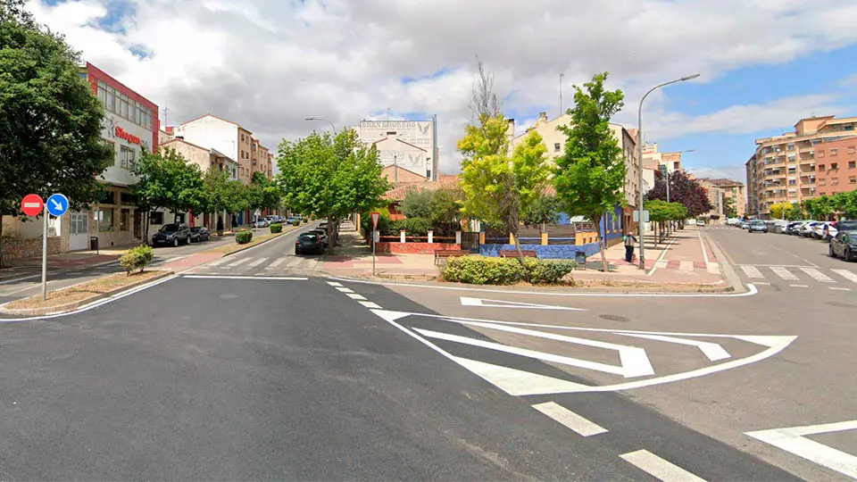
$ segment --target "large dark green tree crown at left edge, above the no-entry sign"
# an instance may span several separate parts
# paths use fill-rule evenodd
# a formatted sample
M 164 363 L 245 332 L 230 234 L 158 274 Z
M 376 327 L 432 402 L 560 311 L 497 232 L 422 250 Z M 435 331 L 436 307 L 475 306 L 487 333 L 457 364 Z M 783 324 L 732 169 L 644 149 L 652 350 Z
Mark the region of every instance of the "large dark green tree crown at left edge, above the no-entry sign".
M 104 107 L 80 79 L 79 54 L 25 5 L 0 0 L 0 216 L 20 214 L 29 193 L 63 193 L 82 209 L 101 197 L 95 175 L 114 155 L 101 138 Z

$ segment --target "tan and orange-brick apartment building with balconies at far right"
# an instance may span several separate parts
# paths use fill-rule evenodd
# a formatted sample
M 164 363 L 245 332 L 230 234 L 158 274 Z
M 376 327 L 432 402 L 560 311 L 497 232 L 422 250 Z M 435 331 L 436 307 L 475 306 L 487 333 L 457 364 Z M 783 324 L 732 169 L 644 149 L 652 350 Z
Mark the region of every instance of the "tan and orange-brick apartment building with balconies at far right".
M 833 179 L 836 188 L 840 182 L 849 182 L 845 172 L 840 175 L 839 162 L 830 161 L 828 143 L 854 137 L 857 117 L 836 119 L 835 116 L 809 117 L 798 120 L 795 130 L 781 136 L 756 139 L 756 150 L 747 162 L 747 188 L 752 202 L 750 211 L 762 219 L 770 217 L 770 206 L 776 203 L 800 203 L 820 195 L 820 167 L 816 164 L 825 156 L 825 189 L 829 193 Z M 844 143 L 843 154 L 848 143 Z M 839 147 L 833 147 L 836 156 Z M 824 152 L 825 154 L 820 154 Z M 847 154 L 845 154 L 847 155 Z M 836 163 L 836 172 L 830 176 L 828 166 Z

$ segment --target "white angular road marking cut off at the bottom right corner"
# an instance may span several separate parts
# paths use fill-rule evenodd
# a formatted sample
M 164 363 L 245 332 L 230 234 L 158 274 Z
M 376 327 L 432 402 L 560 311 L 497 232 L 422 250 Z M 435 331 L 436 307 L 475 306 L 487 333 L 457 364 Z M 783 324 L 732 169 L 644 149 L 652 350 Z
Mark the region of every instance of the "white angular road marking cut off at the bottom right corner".
M 805 438 L 806 436 L 855 429 L 857 429 L 857 420 L 848 420 L 824 425 L 758 430 L 747 432 L 745 435 L 774 445 L 786 452 L 794 453 L 830 470 L 836 470 L 847 477 L 857 478 L 857 456 Z

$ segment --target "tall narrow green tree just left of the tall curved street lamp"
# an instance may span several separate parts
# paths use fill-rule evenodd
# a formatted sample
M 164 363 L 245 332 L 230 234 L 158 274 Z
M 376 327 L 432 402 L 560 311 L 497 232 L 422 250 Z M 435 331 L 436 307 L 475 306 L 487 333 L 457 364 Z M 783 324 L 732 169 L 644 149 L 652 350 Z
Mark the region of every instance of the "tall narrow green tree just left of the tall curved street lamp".
M 566 142 L 553 179 L 564 211 L 585 216 L 599 227 L 606 212 L 625 202 L 625 160 L 610 129 L 610 119 L 622 108 L 625 95 L 621 90 L 604 89 L 607 75 L 595 74 L 584 88 L 574 86 L 574 106 L 568 110 L 571 122 L 557 128 L 565 133 Z M 598 245 L 606 272 L 600 228 Z

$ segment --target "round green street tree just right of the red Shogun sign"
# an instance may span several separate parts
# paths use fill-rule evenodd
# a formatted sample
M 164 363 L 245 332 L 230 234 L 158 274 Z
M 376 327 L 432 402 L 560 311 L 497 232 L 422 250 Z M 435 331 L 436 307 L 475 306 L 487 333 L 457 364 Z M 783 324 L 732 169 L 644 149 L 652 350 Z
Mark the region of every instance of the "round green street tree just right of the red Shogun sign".
M 164 149 L 156 154 L 144 151 L 134 173 L 139 179 L 134 192 L 138 205 L 146 213 L 168 209 L 173 212 L 174 221 L 179 222 L 180 212 L 199 212 L 210 204 L 206 200 L 199 166 L 188 164 L 175 149 Z M 146 223 L 146 231 L 148 226 Z

